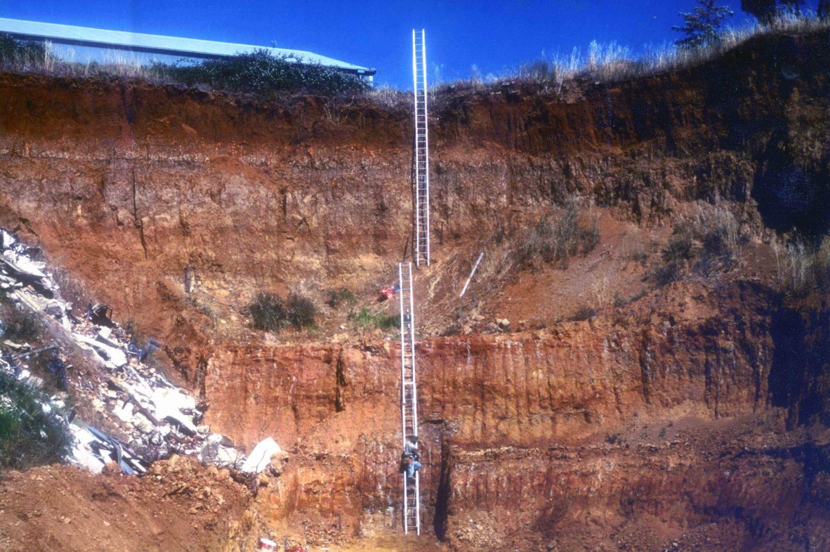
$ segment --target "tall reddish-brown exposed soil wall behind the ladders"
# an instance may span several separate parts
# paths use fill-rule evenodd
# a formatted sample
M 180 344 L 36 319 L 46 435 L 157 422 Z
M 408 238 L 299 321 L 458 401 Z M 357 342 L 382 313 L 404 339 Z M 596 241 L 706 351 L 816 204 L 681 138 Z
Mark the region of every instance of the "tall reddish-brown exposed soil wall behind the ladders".
M 638 246 L 652 256 L 695 202 L 734 212 L 759 248 L 772 230 L 826 231 L 828 62 L 826 32 L 762 37 L 563 95 L 516 83 L 437 95 L 423 320 L 447 326 L 430 301 L 456 305 L 430 286 L 442 258 L 473 256 L 574 193 L 651 232 Z M 398 344 L 339 320 L 262 336 L 244 306 L 261 290 L 322 303 L 388 284 L 411 232 L 407 108 L 17 75 L 0 76 L 0 98 L 3 222 L 163 340 L 162 362 L 209 403 L 214 429 L 291 451 L 258 499 L 263 519 L 317 542 L 397 530 Z M 511 289 L 535 276 L 517 272 Z M 793 350 L 812 342 L 826 357 L 827 325 L 756 276 L 676 283 L 546 329 L 424 335 L 428 530 L 470 550 L 827 546 L 827 363 Z M 511 294 L 492 308 L 549 300 Z

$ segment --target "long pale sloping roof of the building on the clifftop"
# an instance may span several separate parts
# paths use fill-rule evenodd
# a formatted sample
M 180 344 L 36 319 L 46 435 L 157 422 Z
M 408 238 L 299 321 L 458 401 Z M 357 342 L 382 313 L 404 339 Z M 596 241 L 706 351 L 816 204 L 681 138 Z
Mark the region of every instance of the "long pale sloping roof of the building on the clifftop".
M 52 42 L 68 42 L 83 46 L 121 47 L 174 56 L 234 56 L 239 53 L 249 53 L 255 50 L 267 50 L 275 56 L 286 56 L 287 59 L 300 63 L 319 63 L 322 66 L 336 67 L 366 75 L 374 75 L 375 73 L 375 70 L 369 69 L 369 67 L 356 66 L 352 63 L 335 60 L 331 57 L 320 56 L 310 51 L 251 46 L 250 44 L 233 44 L 232 42 L 214 42 L 200 40 L 198 38 L 164 37 L 161 35 L 148 35 L 141 32 L 107 31 L 105 29 L 94 29 L 91 27 L 74 27 L 72 25 L 23 21 L 22 19 L 7 19 L 5 17 L 0 17 L 0 32 L 7 32 L 22 37 L 46 39 Z

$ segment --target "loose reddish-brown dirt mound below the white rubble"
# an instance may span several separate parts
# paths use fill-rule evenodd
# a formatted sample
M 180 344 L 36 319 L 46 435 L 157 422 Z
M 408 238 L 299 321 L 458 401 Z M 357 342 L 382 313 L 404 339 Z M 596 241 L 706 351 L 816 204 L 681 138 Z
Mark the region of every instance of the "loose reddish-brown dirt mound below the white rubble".
M 12 471 L 0 481 L 0 549 L 220 550 L 248 496 L 227 471 L 187 457 L 143 477 Z

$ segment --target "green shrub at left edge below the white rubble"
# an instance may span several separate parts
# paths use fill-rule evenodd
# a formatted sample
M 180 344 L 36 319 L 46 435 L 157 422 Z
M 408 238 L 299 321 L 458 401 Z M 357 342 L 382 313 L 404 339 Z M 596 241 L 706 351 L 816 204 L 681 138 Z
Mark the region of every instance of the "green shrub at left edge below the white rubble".
M 45 402 L 45 395 L 0 372 L 0 469 L 26 470 L 70 454 L 66 425 L 44 411 Z

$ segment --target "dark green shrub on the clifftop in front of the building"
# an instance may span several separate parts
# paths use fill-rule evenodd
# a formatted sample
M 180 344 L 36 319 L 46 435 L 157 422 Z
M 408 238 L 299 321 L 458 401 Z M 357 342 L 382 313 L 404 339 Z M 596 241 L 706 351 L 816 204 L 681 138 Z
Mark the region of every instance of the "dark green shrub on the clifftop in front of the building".
M 289 61 L 265 49 L 196 65 L 155 63 L 153 71 L 186 85 L 210 85 L 234 92 L 305 91 L 323 95 L 369 90 L 359 76 L 321 65 Z

